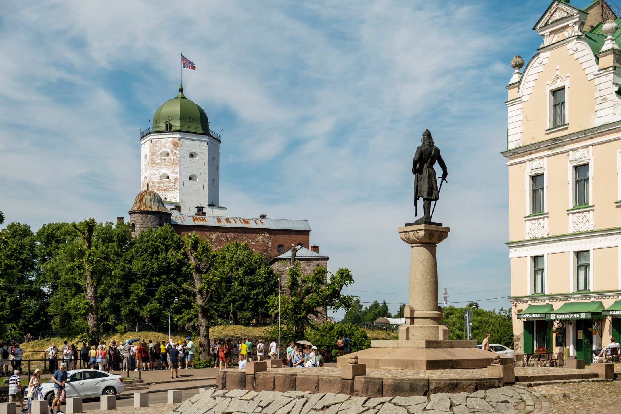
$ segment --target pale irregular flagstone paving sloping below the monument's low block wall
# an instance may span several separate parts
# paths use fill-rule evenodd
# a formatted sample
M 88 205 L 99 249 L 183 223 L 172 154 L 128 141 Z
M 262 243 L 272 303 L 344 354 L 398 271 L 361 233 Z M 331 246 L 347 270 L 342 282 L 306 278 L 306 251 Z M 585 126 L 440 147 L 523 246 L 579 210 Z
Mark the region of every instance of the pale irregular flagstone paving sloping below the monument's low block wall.
M 550 404 L 541 394 L 514 386 L 472 394 L 430 397 L 350 397 L 301 391 L 206 390 L 174 407 L 168 414 L 518 414 L 542 413 Z

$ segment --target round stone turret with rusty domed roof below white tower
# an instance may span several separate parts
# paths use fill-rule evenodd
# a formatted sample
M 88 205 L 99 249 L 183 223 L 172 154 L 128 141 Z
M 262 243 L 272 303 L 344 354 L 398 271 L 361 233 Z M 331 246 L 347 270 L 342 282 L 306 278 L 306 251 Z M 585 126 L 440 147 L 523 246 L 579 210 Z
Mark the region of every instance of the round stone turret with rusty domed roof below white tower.
M 171 222 L 172 213 L 166 208 L 160 194 L 155 191 L 140 191 L 129 210 L 129 222 L 132 236 L 147 228 L 158 228 Z

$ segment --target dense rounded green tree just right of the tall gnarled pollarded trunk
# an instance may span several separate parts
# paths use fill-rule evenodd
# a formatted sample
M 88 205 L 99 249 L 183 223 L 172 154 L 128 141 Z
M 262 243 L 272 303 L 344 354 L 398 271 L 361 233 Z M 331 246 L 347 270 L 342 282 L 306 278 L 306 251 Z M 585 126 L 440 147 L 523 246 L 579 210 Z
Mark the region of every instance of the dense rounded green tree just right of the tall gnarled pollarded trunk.
M 255 318 L 270 316 L 268 298 L 278 293 L 278 280 L 263 254 L 233 241 L 214 251 L 211 270 L 227 277 L 227 283 L 214 292 L 217 317 L 227 322 L 230 317 L 233 325 L 249 325 Z

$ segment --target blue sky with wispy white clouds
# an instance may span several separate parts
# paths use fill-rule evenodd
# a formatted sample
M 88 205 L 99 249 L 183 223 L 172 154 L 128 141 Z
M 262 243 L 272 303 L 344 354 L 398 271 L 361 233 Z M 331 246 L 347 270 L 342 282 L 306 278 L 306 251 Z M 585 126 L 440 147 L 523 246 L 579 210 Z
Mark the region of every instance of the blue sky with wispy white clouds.
M 330 271 L 353 272 L 348 293 L 407 302 L 396 228 L 414 221 L 411 161 L 429 128 L 449 170 L 440 290 L 506 308 L 484 300 L 510 286 L 504 86 L 513 56 L 540 45 L 532 27 L 548 4 L 7 2 L 0 210 L 35 230 L 127 218 L 139 128 L 176 96 L 183 52 L 197 65 L 184 93 L 222 129 L 230 216 L 307 219 Z

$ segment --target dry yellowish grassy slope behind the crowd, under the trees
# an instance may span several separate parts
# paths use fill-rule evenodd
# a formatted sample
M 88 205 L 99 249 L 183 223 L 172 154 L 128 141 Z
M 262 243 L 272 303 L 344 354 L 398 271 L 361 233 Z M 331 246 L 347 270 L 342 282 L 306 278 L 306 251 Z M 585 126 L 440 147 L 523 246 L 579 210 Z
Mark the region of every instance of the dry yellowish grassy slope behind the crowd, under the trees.
M 269 326 L 240 326 L 240 325 L 232 325 L 232 326 L 214 326 L 209 330 L 209 335 L 211 338 L 265 338 L 266 331 L 269 329 Z M 397 338 L 397 333 L 384 332 L 382 330 L 367 330 L 366 331 L 369 338 L 374 340 L 391 340 Z M 179 333 L 173 333 L 173 340 L 183 340 L 185 337 Z M 142 332 L 129 332 L 129 333 L 102 333 L 101 339 L 106 341 L 108 344 L 112 339 L 115 339 L 117 343 L 124 343 L 125 340 L 129 340 L 132 338 L 141 338 L 145 342 L 148 343 L 149 340 L 155 341 L 166 341 L 168 340 L 168 335 L 165 333 L 157 333 L 150 331 L 142 331 Z M 81 348 L 82 344 L 78 343 L 75 338 L 51 338 L 50 340 L 43 341 L 33 341 L 30 343 L 21 344 L 21 347 L 24 351 L 43 351 L 45 348 L 50 346 L 52 342 L 56 343 L 56 346 L 60 348 L 63 344 L 63 341 L 67 341 L 69 344 L 76 344 L 76 346 Z

